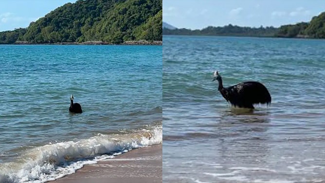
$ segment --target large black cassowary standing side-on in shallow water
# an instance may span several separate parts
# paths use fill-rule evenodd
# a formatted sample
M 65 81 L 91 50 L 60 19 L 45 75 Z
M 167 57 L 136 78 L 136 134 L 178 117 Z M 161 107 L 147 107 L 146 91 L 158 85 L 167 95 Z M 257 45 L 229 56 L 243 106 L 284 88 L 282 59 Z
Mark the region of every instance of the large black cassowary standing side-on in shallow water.
M 271 95 L 268 89 L 259 82 L 247 81 L 223 88 L 222 78 L 217 71 L 215 71 L 212 81 L 215 80 L 219 82 L 218 91 L 223 98 L 235 107 L 254 109 L 253 104 L 271 104 Z

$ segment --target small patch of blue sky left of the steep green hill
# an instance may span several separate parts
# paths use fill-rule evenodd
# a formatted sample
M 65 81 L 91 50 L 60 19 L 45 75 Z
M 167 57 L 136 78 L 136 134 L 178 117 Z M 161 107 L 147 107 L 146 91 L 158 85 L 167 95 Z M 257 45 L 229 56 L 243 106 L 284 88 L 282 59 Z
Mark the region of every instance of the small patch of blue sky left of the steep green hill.
M 0 31 L 28 27 L 57 7 L 76 0 L 0 0 Z

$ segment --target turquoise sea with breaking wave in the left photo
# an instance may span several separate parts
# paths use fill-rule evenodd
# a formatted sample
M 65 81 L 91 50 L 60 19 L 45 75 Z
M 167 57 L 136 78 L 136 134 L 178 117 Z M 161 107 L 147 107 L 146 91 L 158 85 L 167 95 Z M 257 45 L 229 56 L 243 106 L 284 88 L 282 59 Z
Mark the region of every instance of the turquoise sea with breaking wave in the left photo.
M 162 46 L 0 45 L 0 86 L 1 183 L 162 143 Z

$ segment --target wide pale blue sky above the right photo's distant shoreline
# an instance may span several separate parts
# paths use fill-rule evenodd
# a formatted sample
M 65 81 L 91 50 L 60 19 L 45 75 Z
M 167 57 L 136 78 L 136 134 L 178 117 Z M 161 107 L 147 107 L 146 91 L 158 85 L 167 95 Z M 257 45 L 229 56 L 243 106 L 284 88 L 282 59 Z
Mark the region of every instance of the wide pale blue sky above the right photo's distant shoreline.
M 325 0 L 162 0 L 162 20 L 177 28 L 228 24 L 279 27 L 310 21 L 325 11 Z

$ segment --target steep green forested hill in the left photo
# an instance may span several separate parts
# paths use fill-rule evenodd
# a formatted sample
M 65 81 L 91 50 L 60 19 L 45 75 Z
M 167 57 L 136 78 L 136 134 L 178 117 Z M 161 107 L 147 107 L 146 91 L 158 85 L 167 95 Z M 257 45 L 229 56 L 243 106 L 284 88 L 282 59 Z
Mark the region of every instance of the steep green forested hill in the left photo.
M 0 32 L 0 43 L 162 40 L 162 0 L 77 0 L 27 28 Z

